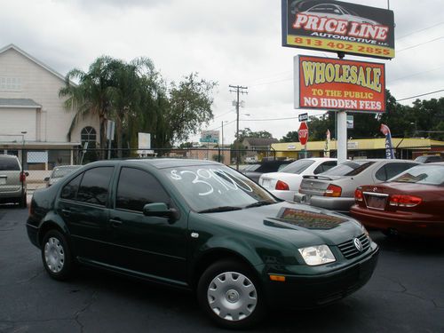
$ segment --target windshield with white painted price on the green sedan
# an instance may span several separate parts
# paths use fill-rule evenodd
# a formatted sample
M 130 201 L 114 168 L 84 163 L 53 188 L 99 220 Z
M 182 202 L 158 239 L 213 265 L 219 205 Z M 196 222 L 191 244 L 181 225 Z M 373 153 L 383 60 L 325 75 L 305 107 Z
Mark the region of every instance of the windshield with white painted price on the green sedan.
M 242 209 L 275 203 L 274 197 L 241 173 L 224 165 L 198 165 L 163 170 L 195 211 Z

